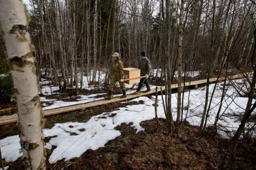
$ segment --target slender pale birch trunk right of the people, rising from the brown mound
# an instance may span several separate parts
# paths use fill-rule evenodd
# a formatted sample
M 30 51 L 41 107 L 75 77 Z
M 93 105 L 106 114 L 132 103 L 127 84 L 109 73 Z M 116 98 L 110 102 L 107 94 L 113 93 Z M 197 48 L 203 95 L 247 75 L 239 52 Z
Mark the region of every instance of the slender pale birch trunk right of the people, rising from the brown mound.
M 181 0 L 180 5 L 180 21 L 179 21 L 179 41 L 178 41 L 178 103 L 177 103 L 177 119 L 180 123 L 180 104 L 181 104 L 181 72 L 182 72 L 182 55 L 183 55 L 183 17 L 184 17 L 185 0 Z

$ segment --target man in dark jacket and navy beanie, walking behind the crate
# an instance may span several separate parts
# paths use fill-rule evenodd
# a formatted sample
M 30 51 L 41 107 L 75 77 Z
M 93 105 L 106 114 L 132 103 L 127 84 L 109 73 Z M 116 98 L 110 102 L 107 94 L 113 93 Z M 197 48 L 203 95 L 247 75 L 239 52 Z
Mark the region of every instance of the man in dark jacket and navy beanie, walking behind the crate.
M 146 57 L 145 52 L 140 53 L 139 68 L 140 68 L 140 76 L 145 76 L 145 78 L 140 79 L 140 84 L 136 92 L 140 92 L 143 83 L 145 83 L 147 87 L 146 92 L 148 92 L 150 90 L 150 86 L 147 78 L 149 77 L 149 74 L 151 72 L 151 64 L 149 59 Z

